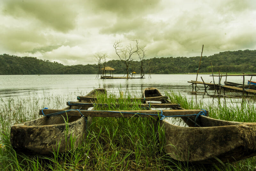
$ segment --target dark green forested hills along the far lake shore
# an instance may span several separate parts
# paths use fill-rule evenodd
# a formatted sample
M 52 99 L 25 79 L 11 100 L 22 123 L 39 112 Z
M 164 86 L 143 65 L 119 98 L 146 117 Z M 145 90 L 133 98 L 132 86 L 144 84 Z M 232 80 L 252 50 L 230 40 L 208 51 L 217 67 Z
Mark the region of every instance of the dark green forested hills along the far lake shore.
M 192 73 L 198 68 L 200 56 L 196 57 L 161 57 L 144 60 L 145 73 L 174 74 Z M 18 57 L 0 55 L 0 75 L 33 74 L 97 74 L 96 64 L 66 66 L 57 62 L 37 59 L 36 57 Z M 256 50 L 226 51 L 212 56 L 203 56 L 199 72 L 240 72 L 256 73 Z M 115 68 L 114 74 L 124 74 L 125 65 L 120 60 L 108 61 L 106 66 Z M 140 73 L 140 62 L 132 61 L 130 72 Z

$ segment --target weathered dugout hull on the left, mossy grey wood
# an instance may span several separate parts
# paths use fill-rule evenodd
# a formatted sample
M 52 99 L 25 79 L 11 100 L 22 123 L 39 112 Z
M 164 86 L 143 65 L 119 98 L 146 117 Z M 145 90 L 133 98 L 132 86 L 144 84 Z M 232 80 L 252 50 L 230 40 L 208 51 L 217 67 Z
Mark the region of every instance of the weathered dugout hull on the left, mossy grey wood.
M 96 93 L 106 93 L 105 89 L 94 89 L 86 97 L 95 97 Z M 90 102 L 81 101 L 79 102 Z M 69 109 L 88 107 L 68 106 Z M 27 154 L 49 155 L 52 152 L 65 152 L 75 148 L 84 141 L 87 121 L 91 118 L 79 116 L 44 116 L 11 127 L 11 144 L 13 149 Z M 68 130 L 67 130 L 68 128 Z M 72 145 L 71 145 L 72 139 Z

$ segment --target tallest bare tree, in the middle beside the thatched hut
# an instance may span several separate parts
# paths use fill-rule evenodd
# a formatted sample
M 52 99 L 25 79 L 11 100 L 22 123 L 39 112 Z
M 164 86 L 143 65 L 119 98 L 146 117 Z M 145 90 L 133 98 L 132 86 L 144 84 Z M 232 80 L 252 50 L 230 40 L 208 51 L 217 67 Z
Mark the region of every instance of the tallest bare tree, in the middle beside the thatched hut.
M 116 41 L 113 45 L 113 47 L 116 49 L 116 55 L 119 57 L 121 61 L 125 63 L 127 79 L 129 78 L 129 72 L 128 72 L 129 64 L 133 60 L 132 55 L 134 55 L 134 53 L 136 53 L 139 50 L 138 40 L 134 40 L 134 41 L 135 41 L 134 46 L 129 44 L 125 48 L 123 48 L 123 45 L 121 44 L 120 41 Z

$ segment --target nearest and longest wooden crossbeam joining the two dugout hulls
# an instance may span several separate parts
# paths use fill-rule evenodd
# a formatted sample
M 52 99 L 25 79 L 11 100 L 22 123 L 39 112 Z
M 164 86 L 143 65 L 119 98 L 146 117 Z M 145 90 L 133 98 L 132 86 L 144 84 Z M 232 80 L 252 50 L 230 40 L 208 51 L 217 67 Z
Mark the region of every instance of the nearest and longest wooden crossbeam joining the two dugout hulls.
M 66 111 L 66 112 L 65 112 Z M 191 109 L 191 110 L 162 110 L 164 116 L 176 116 L 182 117 L 180 115 L 193 115 L 198 114 L 203 110 Z M 158 118 L 158 115 L 161 114 L 160 110 L 123 110 L 123 111 L 97 111 L 97 110 L 58 110 L 58 109 L 44 109 L 44 115 L 49 115 L 58 112 L 65 112 L 55 116 L 81 116 L 80 112 L 85 117 L 153 117 Z M 208 111 L 206 111 L 208 116 Z M 145 114 L 154 114 L 154 115 L 145 115 Z M 39 115 L 42 114 L 42 109 L 39 110 Z M 187 116 L 184 116 L 187 117 Z

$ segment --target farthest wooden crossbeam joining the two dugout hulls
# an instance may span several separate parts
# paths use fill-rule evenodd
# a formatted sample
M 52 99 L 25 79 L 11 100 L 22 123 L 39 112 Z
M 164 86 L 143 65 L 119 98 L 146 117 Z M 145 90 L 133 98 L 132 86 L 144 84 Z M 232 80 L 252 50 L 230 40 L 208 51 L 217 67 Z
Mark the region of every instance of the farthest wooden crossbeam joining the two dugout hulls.
M 86 101 L 96 101 L 97 98 L 95 97 L 86 97 L 86 96 L 77 96 L 77 99 L 78 100 L 86 100 Z M 131 98 L 131 99 L 116 99 L 116 101 L 118 100 L 131 100 L 131 101 L 159 101 L 159 100 L 164 100 L 164 99 L 167 99 L 166 96 L 157 96 L 157 97 L 148 97 L 148 98 Z

